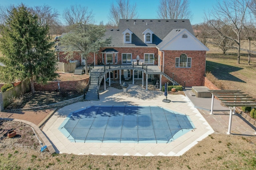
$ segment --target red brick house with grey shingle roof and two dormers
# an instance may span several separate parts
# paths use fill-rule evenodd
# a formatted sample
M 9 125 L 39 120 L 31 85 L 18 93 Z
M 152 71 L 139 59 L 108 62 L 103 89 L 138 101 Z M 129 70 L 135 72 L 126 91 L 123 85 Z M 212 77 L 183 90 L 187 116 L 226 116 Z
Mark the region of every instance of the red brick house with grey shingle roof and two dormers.
M 141 65 L 158 66 L 171 79 L 181 85 L 203 86 L 206 66 L 206 51 L 209 49 L 195 36 L 189 20 L 142 20 L 122 19 L 118 29 L 107 29 L 106 38 L 111 44 L 102 47 L 98 53 L 88 57 L 88 63 L 94 65 Z M 64 54 L 57 47 L 58 59 L 62 62 Z M 84 63 L 79 52 L 74 52 L 74 60 Z M 120 71 L 121 70 L 121 71 Z M 145 73 L 133 67 L 112 70 L 109 75 L 114 80 L 121 78 L 146 79 L 158 78 L 160 84 L 169 82 L 157 72 Z

